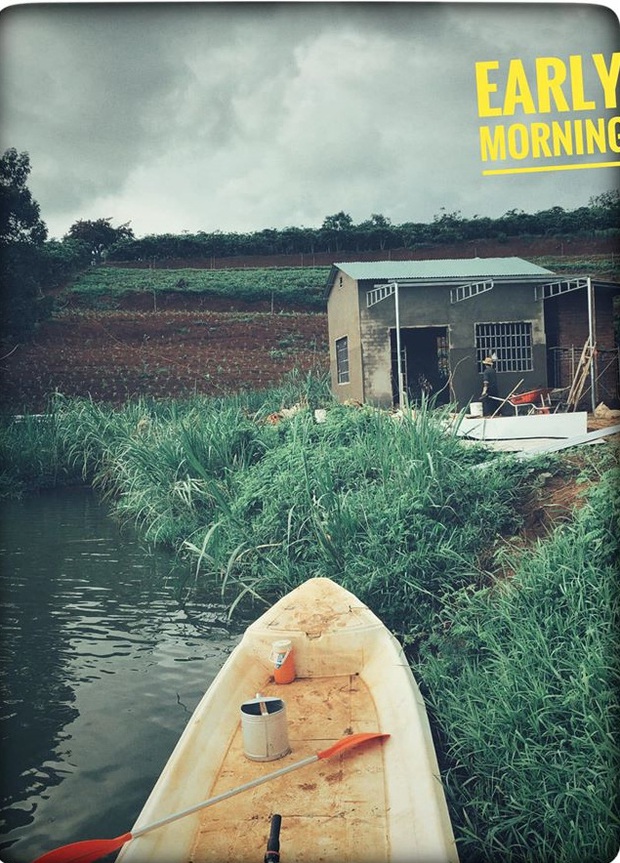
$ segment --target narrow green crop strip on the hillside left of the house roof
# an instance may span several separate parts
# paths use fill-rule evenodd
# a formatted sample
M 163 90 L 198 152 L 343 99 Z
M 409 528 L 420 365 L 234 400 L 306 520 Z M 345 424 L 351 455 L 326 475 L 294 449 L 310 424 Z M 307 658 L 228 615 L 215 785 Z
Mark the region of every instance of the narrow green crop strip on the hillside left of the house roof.
M 270 301 L 323 309 L 329 267 L 272 267 L 236 270 L 151 270 L 97 267 L 82 273 L 70 293 L 96 299 L 163 291 L 235 300 Z

